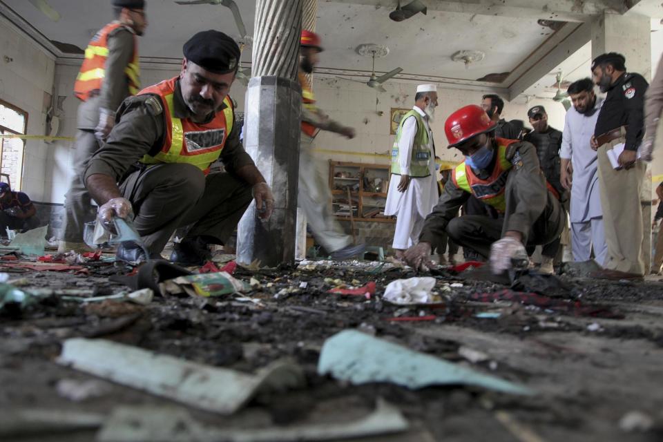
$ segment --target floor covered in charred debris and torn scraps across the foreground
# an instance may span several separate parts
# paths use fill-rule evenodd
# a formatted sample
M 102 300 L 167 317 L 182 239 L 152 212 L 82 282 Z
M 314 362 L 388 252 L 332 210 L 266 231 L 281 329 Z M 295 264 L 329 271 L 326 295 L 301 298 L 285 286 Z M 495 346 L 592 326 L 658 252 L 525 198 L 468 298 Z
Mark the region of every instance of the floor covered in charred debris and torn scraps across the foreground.
M 105 257 L 0 260 L 1 439 L 663 435 L 657 280 Z

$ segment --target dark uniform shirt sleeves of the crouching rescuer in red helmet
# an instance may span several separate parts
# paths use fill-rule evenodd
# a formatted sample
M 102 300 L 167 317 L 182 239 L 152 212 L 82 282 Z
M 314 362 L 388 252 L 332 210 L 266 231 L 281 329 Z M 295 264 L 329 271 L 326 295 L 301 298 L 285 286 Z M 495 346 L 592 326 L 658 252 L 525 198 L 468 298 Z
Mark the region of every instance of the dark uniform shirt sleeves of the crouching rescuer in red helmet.
M 506 150 L 506 158 L 513 164 L 509 175 L 516 180 L 513 187 L 517 193 L 506 194 L 503 231 L 519 231 L 523 234 L 523 242 L 527 242 L 528 233 L 546 209 L 548 198 L 555 197 L 546 187 L 535 146 L 528 142 L 512 143 Z M 514 195 L 518 195 L 518 200 Z M 459 189 L 453 180 L 448 180 L 440 200 L 426 217 L 419 241 L 435 244 L 436 239 L 446 233 L 447 224 L 458 215 L 468 198 L 470 193 Z

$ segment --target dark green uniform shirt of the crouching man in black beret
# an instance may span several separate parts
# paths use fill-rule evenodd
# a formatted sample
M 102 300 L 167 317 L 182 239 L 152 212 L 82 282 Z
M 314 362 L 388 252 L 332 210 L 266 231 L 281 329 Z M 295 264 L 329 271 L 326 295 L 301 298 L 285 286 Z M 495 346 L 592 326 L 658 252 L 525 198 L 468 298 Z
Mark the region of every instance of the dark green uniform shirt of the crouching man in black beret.
M 111 176 L 119 182 L 143 155 L 148 152 L 158 152 L 162 148 L 166 136 L 166 113 L 161 103 L 161 100 L 153 94 L 135 95 L 124 100 L 117 111 L 116 124 L 108 135 L 108 140 L 90 158 L 83 182 L 95 173 Z M 222 112 L 224 108 L 225 105 L 222 104 L 216 112 Z M 206 122 L 210 122 L 213 116 L 210 114 Z M 180 81 L 175 83 L 173 117 L 180 119 L 191 117 L 191 111 L 182 98 Z M 241 128 L 233 124 L 221 151 L 220 160 L 226 171 L 230 173 L 247 165 L 255 165 L 240 143 L 240 131 Z

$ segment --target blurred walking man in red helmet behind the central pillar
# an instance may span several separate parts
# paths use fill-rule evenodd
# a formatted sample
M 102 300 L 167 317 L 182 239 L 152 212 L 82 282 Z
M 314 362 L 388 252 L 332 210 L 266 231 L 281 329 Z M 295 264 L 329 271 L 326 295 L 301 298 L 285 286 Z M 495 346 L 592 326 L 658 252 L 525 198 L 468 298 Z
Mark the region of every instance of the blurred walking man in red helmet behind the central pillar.
M 316 106 L 309 81 L 305 74 L 313 73 L 318 64 L 320 37 L 309 30 L 302 30 L 300 40 L 299 83 L 302 86 L 302 131 L 300 135 L 299 184 L 297 204 L 306 216 L 316 240 L 325 247 L 334 260 L 358 256 L 365 244 L 352 244 L 349 236 L 329 211 L 332 193 L 327 182 L 327 164 L 314 157 L 312 149 L 319 131 L 329 131 L 354 138 L 354 129 L 329 118 Z

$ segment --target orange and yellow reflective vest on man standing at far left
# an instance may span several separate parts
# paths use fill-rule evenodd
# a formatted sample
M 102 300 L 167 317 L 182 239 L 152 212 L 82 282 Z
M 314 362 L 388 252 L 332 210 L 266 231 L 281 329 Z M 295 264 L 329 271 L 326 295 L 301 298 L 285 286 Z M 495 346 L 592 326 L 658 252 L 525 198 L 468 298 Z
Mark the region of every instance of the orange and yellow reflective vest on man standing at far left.
M 81 65 L 76 83 L 74 84 L 74 94 L 84 102 L 90 97 L 93 90 L 102 88 L 104 77 L 106 77 L 106 59 L 108 59 L 108 35 L 119 27 L 126 27 L 117 21 L 108 23 L 99 30 L 95 37 L 90 40 L 85 50 L 85 59 Z M 132 32 L 133 35 L 133 32 Z M 129 94 L 135 95 L 140 89 L 140 64 L 138 59 L 138 44 L 136 36 L 133 35 L 133 59 L 124 68 L 124 74 L 128 79 Z

